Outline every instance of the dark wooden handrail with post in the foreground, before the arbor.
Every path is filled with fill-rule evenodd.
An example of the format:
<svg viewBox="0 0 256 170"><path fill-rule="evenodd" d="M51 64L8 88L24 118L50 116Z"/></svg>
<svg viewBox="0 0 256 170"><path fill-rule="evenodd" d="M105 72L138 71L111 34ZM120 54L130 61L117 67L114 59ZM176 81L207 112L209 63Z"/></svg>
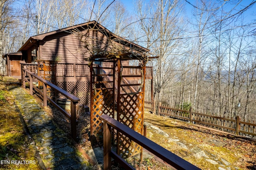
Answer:
<svg viewBox="0 0 256 170"><path fill-rule="evenodd" d="M163 148L162 146L156 144L152 140L149 140L145 136L135 132L126 125L116 121L108 115L101 115L100 119L104 121L104 170L111 168L111 133L110 127L113 127L118 132L124 134L126 137L130 138L152 154L158 156L158 158L164 160L164 162L170 164L179 170L199 170L200 168L194 166L193 164L187 162L186 160L180 158L176 154L170 152L169 150ZM116 156L116 155L115 155Z"/></svg>

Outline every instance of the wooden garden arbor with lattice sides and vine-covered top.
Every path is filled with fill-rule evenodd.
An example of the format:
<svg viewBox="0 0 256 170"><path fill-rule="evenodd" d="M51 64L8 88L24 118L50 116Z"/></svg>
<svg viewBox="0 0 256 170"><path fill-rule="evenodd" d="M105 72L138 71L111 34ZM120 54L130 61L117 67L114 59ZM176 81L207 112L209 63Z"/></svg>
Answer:
<svg viewBox="0 0 256 170"><path fill-rule="evenodd" d="M108 115L143 135L144 87L148 57L134 53L107 53L90 58L91 137L102 138L100 115ZM136 66L123 65L137 60ZM103 66L94 63L104 62ZM128 81L129 79L129 81ZM117 154L128 158L142 147L119 132L112 131ZM116 138L114 138L116 136Z"/></svg>

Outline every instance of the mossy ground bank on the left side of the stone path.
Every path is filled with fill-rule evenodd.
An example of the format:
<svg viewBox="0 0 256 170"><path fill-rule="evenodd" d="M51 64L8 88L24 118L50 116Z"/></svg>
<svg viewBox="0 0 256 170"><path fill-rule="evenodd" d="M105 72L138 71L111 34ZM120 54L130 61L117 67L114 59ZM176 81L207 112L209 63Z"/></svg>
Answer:
<svg viewBox="0 0 256 170"><path fill-rule="evenodd" d="M40 169L35 156L36 150L24 134L20 113L14 109L10 93L3 90L0 94L5 97L4 101L0 100L0 160L32 161L32 164L2 164L1 169Z"/></svg>

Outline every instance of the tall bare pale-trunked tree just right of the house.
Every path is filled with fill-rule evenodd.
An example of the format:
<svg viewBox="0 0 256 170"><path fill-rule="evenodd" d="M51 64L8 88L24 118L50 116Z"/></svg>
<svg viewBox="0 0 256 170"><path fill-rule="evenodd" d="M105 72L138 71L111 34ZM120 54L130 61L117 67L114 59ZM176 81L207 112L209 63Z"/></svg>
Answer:
<svg viewBox="0 0 256 170"><path fill-rule="evenodd" d="M170 53L177 50L180 40L175 40L182 34L182 2L170 0L151 1L149 7L139 1L137 13L140 27L146 40L146 47L155 56L159 56L153 63L155 71L154 100L161 100L164 88L171 86L177 66L177 57ZM179 15L180 14L180 15Z"/></svg>

